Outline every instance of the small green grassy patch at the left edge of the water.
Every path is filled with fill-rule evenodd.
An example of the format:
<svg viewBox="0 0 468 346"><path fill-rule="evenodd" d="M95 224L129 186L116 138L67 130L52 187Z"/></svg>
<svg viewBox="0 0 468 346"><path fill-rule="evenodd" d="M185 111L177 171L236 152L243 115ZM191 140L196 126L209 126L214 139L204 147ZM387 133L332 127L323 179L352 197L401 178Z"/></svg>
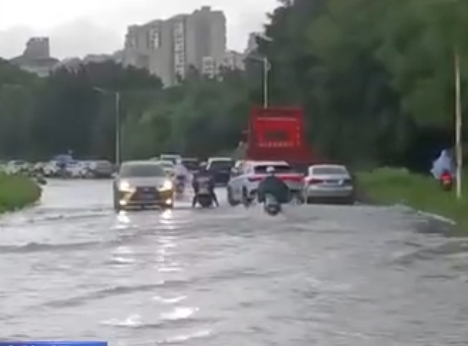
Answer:
<svg viewBox="0 0 468 346"><path fill-rule="evenodd" d="M30 178L0 172L0 213L28 206L41 194L42 189Z"/></svg>

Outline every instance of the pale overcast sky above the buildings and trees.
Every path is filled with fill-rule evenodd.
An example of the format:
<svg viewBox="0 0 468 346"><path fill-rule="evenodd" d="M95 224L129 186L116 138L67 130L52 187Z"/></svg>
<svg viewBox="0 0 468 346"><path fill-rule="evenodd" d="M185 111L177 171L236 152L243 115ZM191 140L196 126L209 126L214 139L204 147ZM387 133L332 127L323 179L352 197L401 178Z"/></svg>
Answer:
<svg viewBox="0 0 468 346"><path fill-rule="evenodd" d="M20 55L31 36L49 36L57 58L121 49L126 28L202 5L223 10L228 47L243 50L276 0L0 0L0 56Z"/></svg>

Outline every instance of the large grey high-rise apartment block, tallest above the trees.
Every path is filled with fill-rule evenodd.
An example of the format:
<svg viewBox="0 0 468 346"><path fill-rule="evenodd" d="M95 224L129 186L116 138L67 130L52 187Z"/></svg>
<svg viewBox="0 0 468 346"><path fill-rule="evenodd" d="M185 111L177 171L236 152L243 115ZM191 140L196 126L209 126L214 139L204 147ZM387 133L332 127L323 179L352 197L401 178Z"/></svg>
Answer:
<svg viewBox="0 0 468 346"><path fill-rule="evenodd" d="M222 64L225 52L226 17L204 6L192 14L130 26L123 62L146 68L171 86L185 77L190 66L203 71L207 58Z"/></svg>

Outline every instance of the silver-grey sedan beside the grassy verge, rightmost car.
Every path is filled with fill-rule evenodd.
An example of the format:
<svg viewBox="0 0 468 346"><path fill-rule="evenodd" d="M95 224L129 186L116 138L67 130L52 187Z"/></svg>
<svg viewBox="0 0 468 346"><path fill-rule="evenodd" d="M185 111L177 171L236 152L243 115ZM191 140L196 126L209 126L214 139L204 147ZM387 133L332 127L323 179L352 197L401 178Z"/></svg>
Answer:
<svg viewBox="0 0 468 346"><path fill-rule="evenodd" d="M355 187L348 169L342 165L317 164L309 167L304 178L304 200L330 200L354 204Z"/></svg>

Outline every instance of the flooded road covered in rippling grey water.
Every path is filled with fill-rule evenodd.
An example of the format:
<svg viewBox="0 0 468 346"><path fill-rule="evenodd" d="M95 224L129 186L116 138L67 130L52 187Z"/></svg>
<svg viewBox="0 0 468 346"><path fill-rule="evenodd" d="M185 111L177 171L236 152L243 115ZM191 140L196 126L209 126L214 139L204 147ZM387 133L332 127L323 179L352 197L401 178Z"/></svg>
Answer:
<svg viewBox="0 0 468 346"><path fill-rule="evenodd" d="M220 200L225 196L222 192ZM403 208L116 215L50 182L0 219L0 337L111 345L466 345L468 242ZM226 205L226 203L224 203Z"/></svg>

